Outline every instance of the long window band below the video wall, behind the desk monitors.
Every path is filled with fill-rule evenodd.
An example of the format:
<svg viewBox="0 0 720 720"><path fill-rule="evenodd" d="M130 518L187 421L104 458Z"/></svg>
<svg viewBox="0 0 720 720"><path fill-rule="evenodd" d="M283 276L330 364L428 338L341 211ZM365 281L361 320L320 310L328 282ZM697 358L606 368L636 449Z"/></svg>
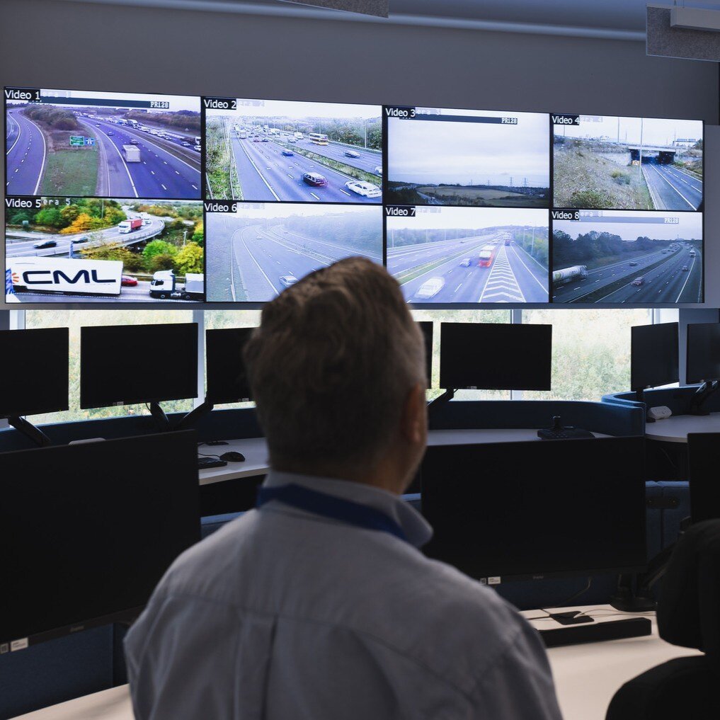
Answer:
<svg viewBox="0 0 720 720"><path fill-rule="evenodd" d="M441 323L549 323L553 325L552 391L509 392L501 390L461 390L458 400L600 400L609 392L629 389L630 328L647 323L677 322L677 309L618 310L414 310L415 320L433 322L432 389L428 400L441 395L440 325ZM146 414L143 405L81 410L80 328L83 325L126 325L150 323L198 322L201 332L217 328L251 328L260 323L259 310L19 310L11 311L11 327L70 328L70 410L30 417L32 423L71 422ZM129 372L162 372L172 356L153 358L138 351L138 364ZM528 354L531 361L531 354ZM201 377L204 368L201 368ZM186 412L197 401L163 403L168 413ZM252 403L219 405L219 408L247 408Z"/></svg>

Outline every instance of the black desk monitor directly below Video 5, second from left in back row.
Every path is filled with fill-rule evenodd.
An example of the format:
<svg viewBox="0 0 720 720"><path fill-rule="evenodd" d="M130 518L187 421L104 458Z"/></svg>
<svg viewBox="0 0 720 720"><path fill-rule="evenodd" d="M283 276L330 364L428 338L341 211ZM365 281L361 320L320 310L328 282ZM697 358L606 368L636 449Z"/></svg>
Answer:
<svg viewBox="0 0 720 720"><path fill-rule="evenodd" d="M197 323L81 328L80 407L197 397Z"/></svg>

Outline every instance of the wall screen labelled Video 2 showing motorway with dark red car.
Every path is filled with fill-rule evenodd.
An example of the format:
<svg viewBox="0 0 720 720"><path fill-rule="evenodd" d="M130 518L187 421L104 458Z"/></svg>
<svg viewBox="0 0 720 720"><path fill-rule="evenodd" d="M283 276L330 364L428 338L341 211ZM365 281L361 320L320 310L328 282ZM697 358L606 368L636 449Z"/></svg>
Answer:
<svg viewBox="0 0 720 720"><path fill-rule="evenodd" d="M202 99L207 197L382 202L379 105Z"/></svg>

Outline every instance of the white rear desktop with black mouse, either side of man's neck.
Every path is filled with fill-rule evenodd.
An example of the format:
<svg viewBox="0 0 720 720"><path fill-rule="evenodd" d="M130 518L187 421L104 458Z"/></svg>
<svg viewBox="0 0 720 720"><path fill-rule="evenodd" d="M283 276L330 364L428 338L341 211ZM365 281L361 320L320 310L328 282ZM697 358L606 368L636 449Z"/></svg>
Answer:
<svg viewBox="0 0 720 720"><path fill-rule="evenodd" d="M594 433L596 438L608 437ZM540 442L537 429L482 430L431 430L428 433L428 445L464 445L471 443L510 443L535 440ZM208 455L222 455L236 450L245 456L245 462L228 462L223 467L211 467L199 471L200 485L212 485L213 482L237 480L240 477L264 475L269 470L268 449L265 438L244 438L228 440L227 445L201 445L198 452Z"/></svg>

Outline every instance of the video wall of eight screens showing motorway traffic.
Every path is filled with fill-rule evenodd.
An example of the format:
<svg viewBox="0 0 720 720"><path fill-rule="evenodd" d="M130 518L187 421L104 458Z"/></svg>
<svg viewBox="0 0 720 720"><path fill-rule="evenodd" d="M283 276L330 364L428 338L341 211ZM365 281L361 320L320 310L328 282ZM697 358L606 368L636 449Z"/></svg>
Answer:
<svg viewBox="0 0 720 720"><path fill-rule="evenodd" d="M703 301L703 122L5 88L6 302Z"/></svg>

